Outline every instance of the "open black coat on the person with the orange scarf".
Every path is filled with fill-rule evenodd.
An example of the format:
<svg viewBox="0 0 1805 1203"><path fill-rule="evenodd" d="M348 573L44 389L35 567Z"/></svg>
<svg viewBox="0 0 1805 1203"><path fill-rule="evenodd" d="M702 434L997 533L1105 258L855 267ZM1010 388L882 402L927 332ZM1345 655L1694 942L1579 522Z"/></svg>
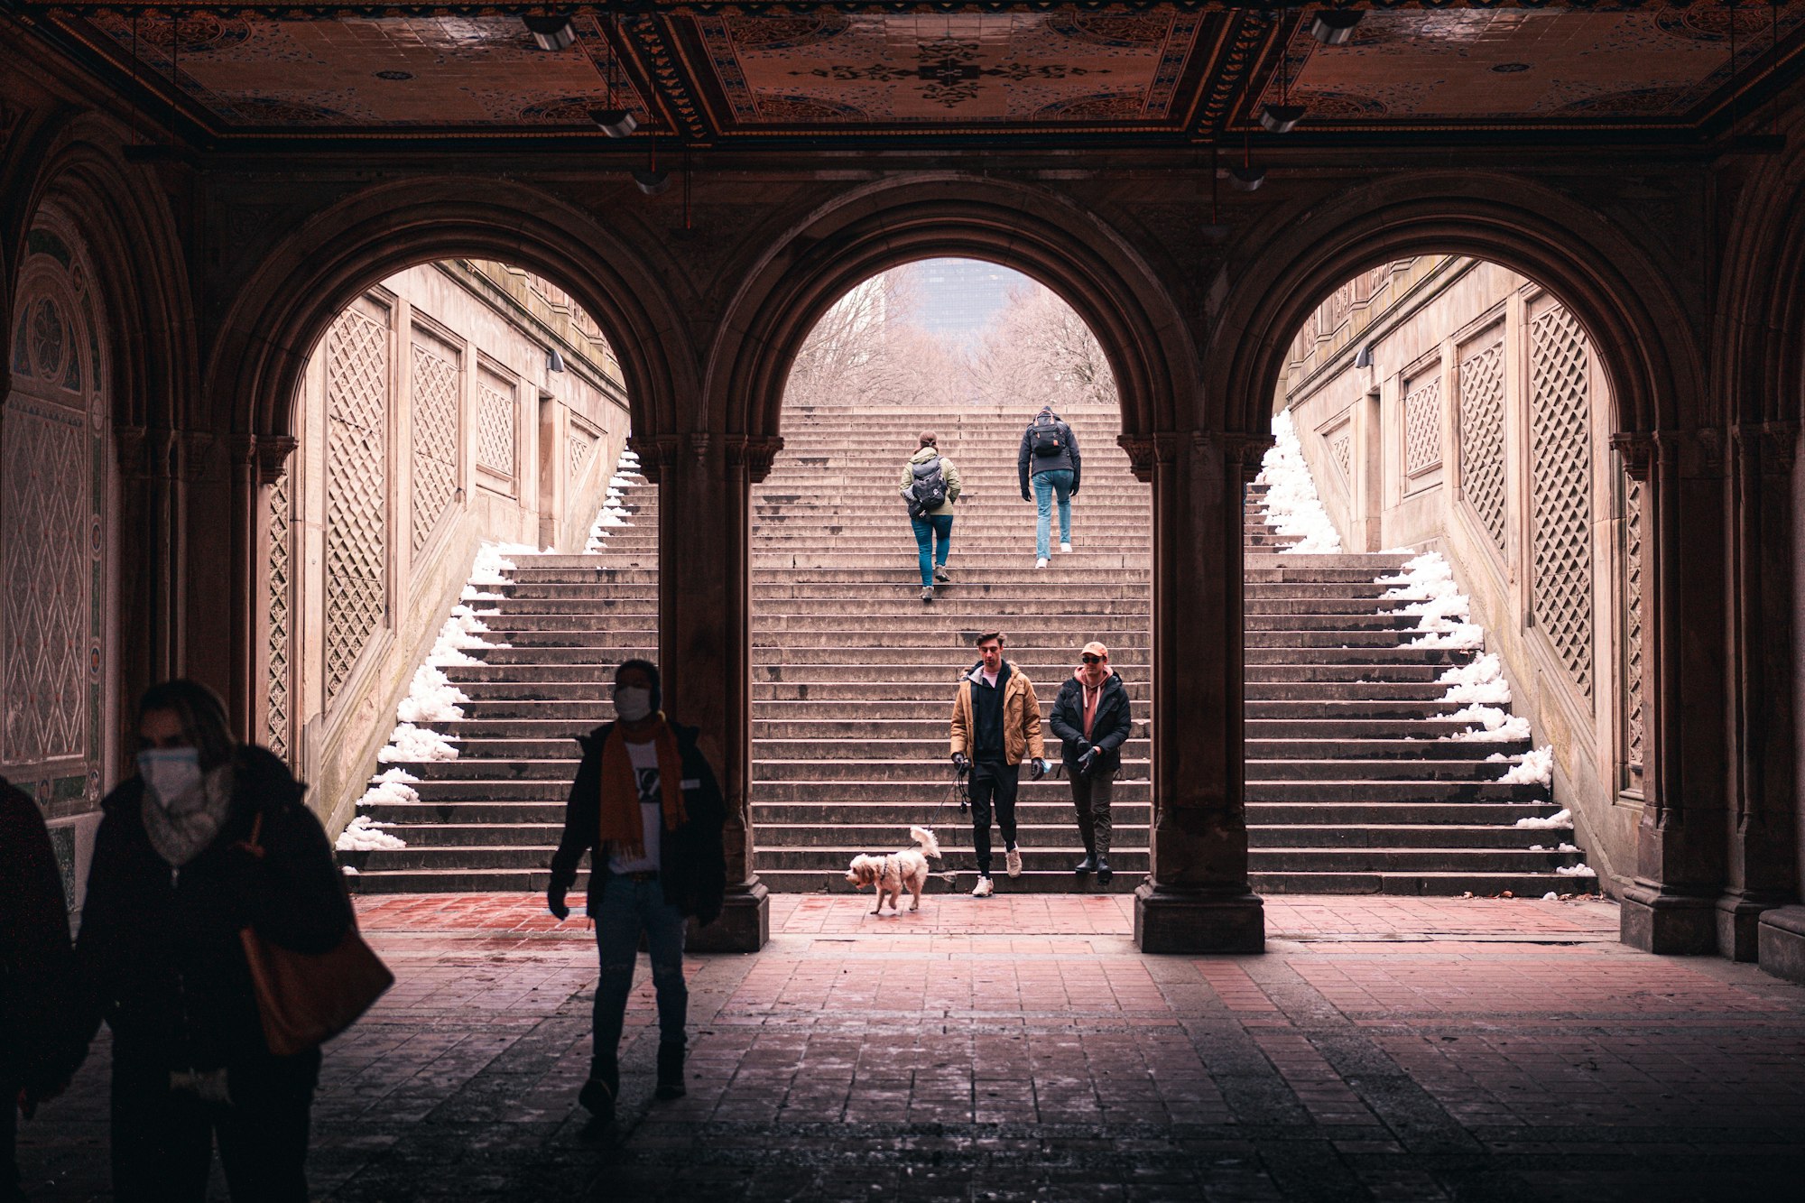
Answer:
<svg viewBox="0 0 1805 1203"><path fill-rule="evenodd" d="M601 746L614 732L603 723L588 735L578 735L583 746L583 764L570 784L565 804L565 831L552 854L552 889L570 889L583 865L583 853L594 853L588 874L588 912L596 914L601 898L597 889L608 876L608 849L597 847L601 836ZM727 853L722 847L722 827L727 822L727 804L708 757L695 746L697 728L671 723L677 751L682 753L682 804L690 820L677 831L659 838L659 881L664 901L684 916L695 916L704 927L720 916L720 898L727 889Z"/></svg>

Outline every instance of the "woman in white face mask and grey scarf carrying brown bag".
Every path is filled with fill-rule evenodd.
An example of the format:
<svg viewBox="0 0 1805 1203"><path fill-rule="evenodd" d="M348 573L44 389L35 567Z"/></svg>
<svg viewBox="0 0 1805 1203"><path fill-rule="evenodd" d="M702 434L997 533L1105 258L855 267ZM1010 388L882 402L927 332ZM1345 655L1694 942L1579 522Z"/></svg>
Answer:
<svg viewBox="0 0 1805 1203"><path fill-rule="evenodd" d="M269 1051L238 932L332 950L352 923L343 878L303 788L231 737L213 690L152 686L137 732L76 941L87 1030L114 1033L116 1198L204 1199L218 1140L233 1199L305 1199L319 1049Z"/></svg>

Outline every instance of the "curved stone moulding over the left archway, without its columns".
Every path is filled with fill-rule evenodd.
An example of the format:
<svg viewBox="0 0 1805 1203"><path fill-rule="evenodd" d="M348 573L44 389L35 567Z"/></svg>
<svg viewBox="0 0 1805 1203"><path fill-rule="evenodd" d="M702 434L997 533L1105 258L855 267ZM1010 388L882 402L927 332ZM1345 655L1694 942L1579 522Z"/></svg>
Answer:
<svg viewBox="0 0 1805 1203"><path fill-rule="evenodd" d="M682 428L684 399L695 396L693 356L652 267L590 213L493 179L480 190L458 179L370 188L273 246L238 289L211 354L206 385L220 423L287 435L296 381L332 318L375 280L455 256L556 280L619 354L634 428Z"/></svg>

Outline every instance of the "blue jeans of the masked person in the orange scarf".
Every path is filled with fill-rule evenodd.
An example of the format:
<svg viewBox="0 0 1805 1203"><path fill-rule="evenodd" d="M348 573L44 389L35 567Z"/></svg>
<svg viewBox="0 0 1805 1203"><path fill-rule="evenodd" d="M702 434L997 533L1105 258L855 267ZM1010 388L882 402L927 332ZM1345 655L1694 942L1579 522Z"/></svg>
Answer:
<svg viewBox="0 0 1805 1203"><path fill-rule="evenodd" d="M606 867L599 872L606 872ZM652 950L652 986L659 997L659 1042L679 1048L684 1044L684 1021L690 1013L690 986L682 979L684 918L677 907L664 901L664 885L657 878L634 881L610 872L594 919L601 979L596 983L596 1069L590 1073L617 1084L616 1057L621 1049L626 995L634 992L634 961L639 957L641 932L646 934Z"/></svg>

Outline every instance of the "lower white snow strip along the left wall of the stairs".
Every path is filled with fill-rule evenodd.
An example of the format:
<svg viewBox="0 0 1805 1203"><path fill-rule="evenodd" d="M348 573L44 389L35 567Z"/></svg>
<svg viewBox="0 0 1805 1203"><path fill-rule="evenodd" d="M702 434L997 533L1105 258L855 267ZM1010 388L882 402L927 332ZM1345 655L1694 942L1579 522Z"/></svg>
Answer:
<svg viewBox="0 0 1805 1203"><path fill-rule="evenodd" d="M467 703L469 697L466 697L464 690L451 685L451 679L444 674L446 665L480 665L480 659L467 654L471 648L511 647L505 639L482 638L489 634L489 625L482 621L478 611L469 607L469 602L500 602L502 594L489 592L487 587L507 583L505 574L514 571L514 562L507 556L531 555L532 551L525 544L484 544L477 551L477 562L471 565L464 592L458 603L451 607L451 616L446 618L444 627L439 629L439 638L426 654L426 663L415 668L408 695L395 706L397 724L388 733L388 744L375 753L379 762L393 768L386 769L365 789L363 797L357 798L359 809L379 802L421 800L421 795L408 784L419 779L395 766L395 760L457 760L457 735L444 735L421 724L448 723L464 717L460 703ZM495 611L482 612L493 614ZM368 815L359 815L339 833L336 847L341 853L366 853L406 847L406 842L386 831L379 831Z"/></svg>

